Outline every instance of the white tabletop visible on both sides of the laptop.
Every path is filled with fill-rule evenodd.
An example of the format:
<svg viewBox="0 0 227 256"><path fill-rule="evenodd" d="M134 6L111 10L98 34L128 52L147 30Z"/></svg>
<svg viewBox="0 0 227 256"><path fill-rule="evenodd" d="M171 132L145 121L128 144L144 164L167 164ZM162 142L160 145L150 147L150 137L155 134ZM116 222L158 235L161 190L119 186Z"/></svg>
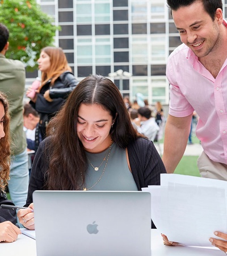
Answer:
<svg viewBox="0 0 227 256"><path fill-rule="evenodd" d="M161 234L152 230L152 255L151 256L224 256L224 252L213 249L186 246L163 245ZM36 256L36 243L30 237L21 234L13 243L0 244L1 255Z"/></svg>

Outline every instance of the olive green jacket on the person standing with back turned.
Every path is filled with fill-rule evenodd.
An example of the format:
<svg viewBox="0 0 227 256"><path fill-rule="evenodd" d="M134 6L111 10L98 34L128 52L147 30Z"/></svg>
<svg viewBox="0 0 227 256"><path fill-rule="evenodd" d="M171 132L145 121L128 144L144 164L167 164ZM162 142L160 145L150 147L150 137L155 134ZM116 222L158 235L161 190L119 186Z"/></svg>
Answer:
<svg viewBox="0 0 227 256"><path fill-rule="evenodd" d="M26 150L26 134L23 130L23 97L25 68L21 61L7 59L0 53L0 90L7 95L10 104L11 150L18 155Z"/></svg>

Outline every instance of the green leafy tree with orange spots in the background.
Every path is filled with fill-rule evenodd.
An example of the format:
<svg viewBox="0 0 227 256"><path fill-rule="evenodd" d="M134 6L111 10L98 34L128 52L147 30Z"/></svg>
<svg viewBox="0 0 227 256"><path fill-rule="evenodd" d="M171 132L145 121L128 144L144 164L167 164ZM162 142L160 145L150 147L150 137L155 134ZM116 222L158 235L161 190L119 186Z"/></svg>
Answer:
<svg viewBox="0 0 227 256"><path fill-rule="evenodd" d="M1 0L0 22L10 31L7 57L21 60L28 71L37 68L40 50L53 46L55 32L59 29L35 0Z"/></svg>

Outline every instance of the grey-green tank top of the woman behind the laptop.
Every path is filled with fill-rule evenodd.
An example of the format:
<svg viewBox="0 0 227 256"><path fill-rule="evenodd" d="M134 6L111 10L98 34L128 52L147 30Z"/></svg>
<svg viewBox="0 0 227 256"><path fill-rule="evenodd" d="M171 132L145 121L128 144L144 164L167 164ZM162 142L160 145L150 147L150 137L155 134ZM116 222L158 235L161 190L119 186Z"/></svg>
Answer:
<svg viewBox="0 0 227 256"><path fill-rule="evenodd" d="M137 191L136 183L128 168L125 149L113 143L109 157L108 152L109 148L98 154L86 152L87 158L90 160L88 160L88 169L85 175L87 190ZM105 156L106 160L103 161ZM103 172L105 165L106 169ZM95 171L94 167L99 167L99 170Z"/></svg>

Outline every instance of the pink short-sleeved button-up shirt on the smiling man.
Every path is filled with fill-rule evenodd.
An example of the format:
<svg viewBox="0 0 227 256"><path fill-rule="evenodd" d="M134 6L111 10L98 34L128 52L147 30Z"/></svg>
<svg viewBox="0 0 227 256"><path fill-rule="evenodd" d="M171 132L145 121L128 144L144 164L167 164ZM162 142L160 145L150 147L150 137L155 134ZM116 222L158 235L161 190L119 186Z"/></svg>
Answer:
<svg viewBox="0 0 227 256"><path fill-rule="evenodd" d="M195 110L199 115L196 135L205 154L227 164L227 59L215 79L182 44L171 53L166 76L170 82L169 113L186 117Z"/></svg>

